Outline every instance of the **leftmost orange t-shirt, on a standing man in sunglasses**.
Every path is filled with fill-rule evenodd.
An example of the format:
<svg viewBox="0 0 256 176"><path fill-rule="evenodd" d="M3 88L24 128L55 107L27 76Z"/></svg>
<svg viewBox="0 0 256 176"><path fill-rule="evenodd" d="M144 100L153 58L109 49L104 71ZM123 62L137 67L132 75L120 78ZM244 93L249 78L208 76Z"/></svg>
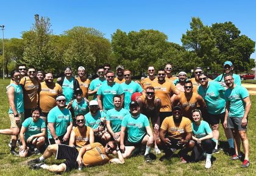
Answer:
<svg viewBox="0 0 256 176"><path fill-rule="evenodd" d="M39 83L35 78L33 81L30 80L29 76L24 76L20 84L24 86L23 91L23 101L25 109L32 109L32 107L37 107L37 93L39 88ZM22 86L21 85L21 86Z"/></svg>

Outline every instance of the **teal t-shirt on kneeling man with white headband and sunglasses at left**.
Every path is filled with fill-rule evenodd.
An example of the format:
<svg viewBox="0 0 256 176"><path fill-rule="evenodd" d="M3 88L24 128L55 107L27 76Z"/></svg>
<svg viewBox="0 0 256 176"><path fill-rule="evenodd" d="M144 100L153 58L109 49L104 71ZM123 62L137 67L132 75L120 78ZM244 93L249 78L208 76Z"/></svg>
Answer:
<svg viewBox="0 0 256 176"><path fill-rule="evenodd" d="M54 129L57 137L66 133L66 128L71 122L73 122L71 112L64 108L60 110L59 107L55 106L50 110L47 117L48 123L54 123ZM51 132L48 127L48 138L52 138Z"/></svg>

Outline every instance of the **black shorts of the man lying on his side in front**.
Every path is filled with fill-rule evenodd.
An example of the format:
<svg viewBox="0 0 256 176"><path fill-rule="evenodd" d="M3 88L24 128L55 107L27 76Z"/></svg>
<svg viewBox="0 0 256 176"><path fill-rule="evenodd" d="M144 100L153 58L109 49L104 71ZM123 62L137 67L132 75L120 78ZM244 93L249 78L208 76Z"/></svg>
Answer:
<svg viewBox="0 0 256 176"><path fill-rule="evenodd" d="M58 150L56 154L57 160L66 160L66 172L71 171L72 169L78 168L78 163L76 158L78 156L78 151L76 147L66 146L64 144L58 144Z"/></svg>

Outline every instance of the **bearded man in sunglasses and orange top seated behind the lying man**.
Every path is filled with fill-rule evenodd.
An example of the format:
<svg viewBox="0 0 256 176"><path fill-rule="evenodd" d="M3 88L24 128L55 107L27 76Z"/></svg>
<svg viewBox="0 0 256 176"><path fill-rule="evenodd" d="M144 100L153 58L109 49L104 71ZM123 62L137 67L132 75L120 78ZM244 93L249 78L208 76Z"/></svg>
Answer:
<svg viewBox="0 0 256 176"><path fill-rule="evenodd" d="M89 126L85 126L85 117L83 114L77 114L75 127L70 134L69 146L84 147L94 143L94 132Z"/></svg>

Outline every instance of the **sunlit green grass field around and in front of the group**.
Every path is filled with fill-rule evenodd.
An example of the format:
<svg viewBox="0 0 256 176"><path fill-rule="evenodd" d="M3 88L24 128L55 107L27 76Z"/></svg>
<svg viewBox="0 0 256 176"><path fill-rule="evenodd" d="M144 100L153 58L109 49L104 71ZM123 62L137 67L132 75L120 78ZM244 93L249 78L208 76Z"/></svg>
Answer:
<svg viewBox="0 0 256 176"><path fill-rule="evenodd" d="M0 80L0 129L10 127L10 120L8 117L9 103L7 101L7 94L5 87L10 83L10 80ZM180 163L179 158L173 157L170 161L159 161L161 155L157 155L157 160L152 163L144 163L142 156L133 157L126 160L123 165L105 164L104 166L94 166L91 168L83 168L82 171L72 171L63 175L256 175L256 133L254 134L254 127L256 127L256 96L251 96L252 108L249 115L249 128L247 134L250 143L250 161L249 168L240 168L241 161L231 161L229 156L221 151L219 154L214 154L213 165L211 169L204 168L204 161L199 163ZM220 140L226 141L223 130L221 128ZM36 158L34 155L29 158L14 157L9 154L10 148L7 145L10 137L7 135L0 135L0 175L54 175L43 169L32 171L26 166L27 160ZM243 150L243 149L242 149ZM46 163L54 164L61 163L52 157Z"/></svg>

